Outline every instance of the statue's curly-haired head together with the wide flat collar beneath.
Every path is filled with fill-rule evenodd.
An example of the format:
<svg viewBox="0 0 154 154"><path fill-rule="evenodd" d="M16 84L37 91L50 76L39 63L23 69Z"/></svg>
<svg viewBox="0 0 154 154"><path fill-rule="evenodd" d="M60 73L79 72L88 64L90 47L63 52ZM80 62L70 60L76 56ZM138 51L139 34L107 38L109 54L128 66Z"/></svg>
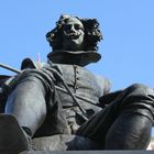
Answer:
<svg viewBox="0 0 154 154"><path fill-rule="evenodd" d="M46 38L53 48L47 57L54 63L85 66L101 58L97 44L102 35L96 19L63 14Z"/></svg>

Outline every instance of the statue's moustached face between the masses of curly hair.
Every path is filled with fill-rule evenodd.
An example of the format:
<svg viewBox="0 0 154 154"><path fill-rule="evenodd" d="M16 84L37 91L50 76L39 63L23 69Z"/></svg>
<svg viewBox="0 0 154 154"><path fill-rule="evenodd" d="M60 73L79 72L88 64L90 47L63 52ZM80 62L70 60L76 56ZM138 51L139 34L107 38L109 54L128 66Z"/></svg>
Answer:
<svg viewBox="0 0 154 154"><path fill-rule="evenodd" d="M85 35L82 23L76 18L69 18L63 30L63 48L81 51Z"/></svg>

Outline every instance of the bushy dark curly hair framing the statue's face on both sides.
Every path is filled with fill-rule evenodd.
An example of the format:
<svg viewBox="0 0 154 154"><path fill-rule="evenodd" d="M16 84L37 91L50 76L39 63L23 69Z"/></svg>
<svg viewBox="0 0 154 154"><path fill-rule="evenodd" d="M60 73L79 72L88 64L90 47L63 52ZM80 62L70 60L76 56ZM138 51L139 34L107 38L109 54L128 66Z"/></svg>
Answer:
<svg viewBox="0 0 154 154"><path fill-rule="evenodd" d="M78 19L84 25L84 51L97 51L97 44L100 40L102 40L98 21L96 19L80 19L78 16L72 16L67 14L62 14L59 20L56 22L56 28L46 34L46 38L50 43L50 46L53 47L53 51L63 50L63 26L67 23L69 18Z"/></svg>

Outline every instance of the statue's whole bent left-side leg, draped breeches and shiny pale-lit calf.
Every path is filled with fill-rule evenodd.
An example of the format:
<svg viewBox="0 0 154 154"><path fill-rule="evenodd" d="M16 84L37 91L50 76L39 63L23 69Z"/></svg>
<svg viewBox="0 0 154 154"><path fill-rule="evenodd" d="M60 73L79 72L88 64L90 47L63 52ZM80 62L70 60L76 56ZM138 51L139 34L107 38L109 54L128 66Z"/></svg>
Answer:
<svg viewBox="0 0 154 154"><path fill-rule="evenodd" d="M51 135L53 131L57 130L56 128L58 128L56 132L68 132L68 125L63 117L62 106L50 75L52 76L52 73L47 74L38 70L23 73L18 78L8 98L4 113L12 114L15 118L14 121L19 123L16 127L12 123L15 131L10 129L8 131L10 134L13 134L11 136L14 136L15 132L20 132L20 136L22 138L20 140L28 142L23 143L24 146L22 150L25 145L28 147L24 150L33 148L31 138ZM18 131L16 128L21 131ZM2 135L3 138L0 138L0 146L8 151L9 143L14 138L3 142L2 139L6 139L6 133ZM18 142L15 143L18 144ZM11 150L19 147L19 145L11 145ZM16 152L19 150L15 151L15 154Z"/></svg>

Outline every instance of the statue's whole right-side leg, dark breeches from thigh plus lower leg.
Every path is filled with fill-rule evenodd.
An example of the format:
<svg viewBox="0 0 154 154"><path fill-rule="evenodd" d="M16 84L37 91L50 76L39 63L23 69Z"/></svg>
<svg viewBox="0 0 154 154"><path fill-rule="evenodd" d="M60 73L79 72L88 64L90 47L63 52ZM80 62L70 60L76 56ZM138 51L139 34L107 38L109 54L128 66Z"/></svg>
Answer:
<svg viewBox="0 0 154 154"><path fill-rule="evenodd" d="M151 139L153 118L153 89L135 84L81 125L77 133L98 141L106 150L143 150Z"/></svg>

